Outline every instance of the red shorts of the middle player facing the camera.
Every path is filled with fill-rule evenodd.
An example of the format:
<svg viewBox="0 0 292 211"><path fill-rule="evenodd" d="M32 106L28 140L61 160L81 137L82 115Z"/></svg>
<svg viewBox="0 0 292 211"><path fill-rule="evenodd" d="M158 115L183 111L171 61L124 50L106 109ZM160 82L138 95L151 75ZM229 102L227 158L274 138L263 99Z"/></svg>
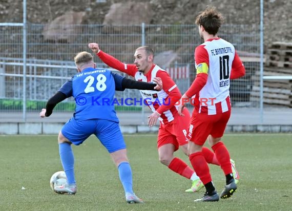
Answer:
<svg viewBox="0 0 292 211"><path fill-rule="evenodd" d="M178 113L174 116L174 120L169 123L160 123L158 130L157 147L168 143L172 143L175 146L175 151L179 146L187 143L186 132L190 124L190 112L187 108L183 109L184 116L180 116Z"/></svg>

